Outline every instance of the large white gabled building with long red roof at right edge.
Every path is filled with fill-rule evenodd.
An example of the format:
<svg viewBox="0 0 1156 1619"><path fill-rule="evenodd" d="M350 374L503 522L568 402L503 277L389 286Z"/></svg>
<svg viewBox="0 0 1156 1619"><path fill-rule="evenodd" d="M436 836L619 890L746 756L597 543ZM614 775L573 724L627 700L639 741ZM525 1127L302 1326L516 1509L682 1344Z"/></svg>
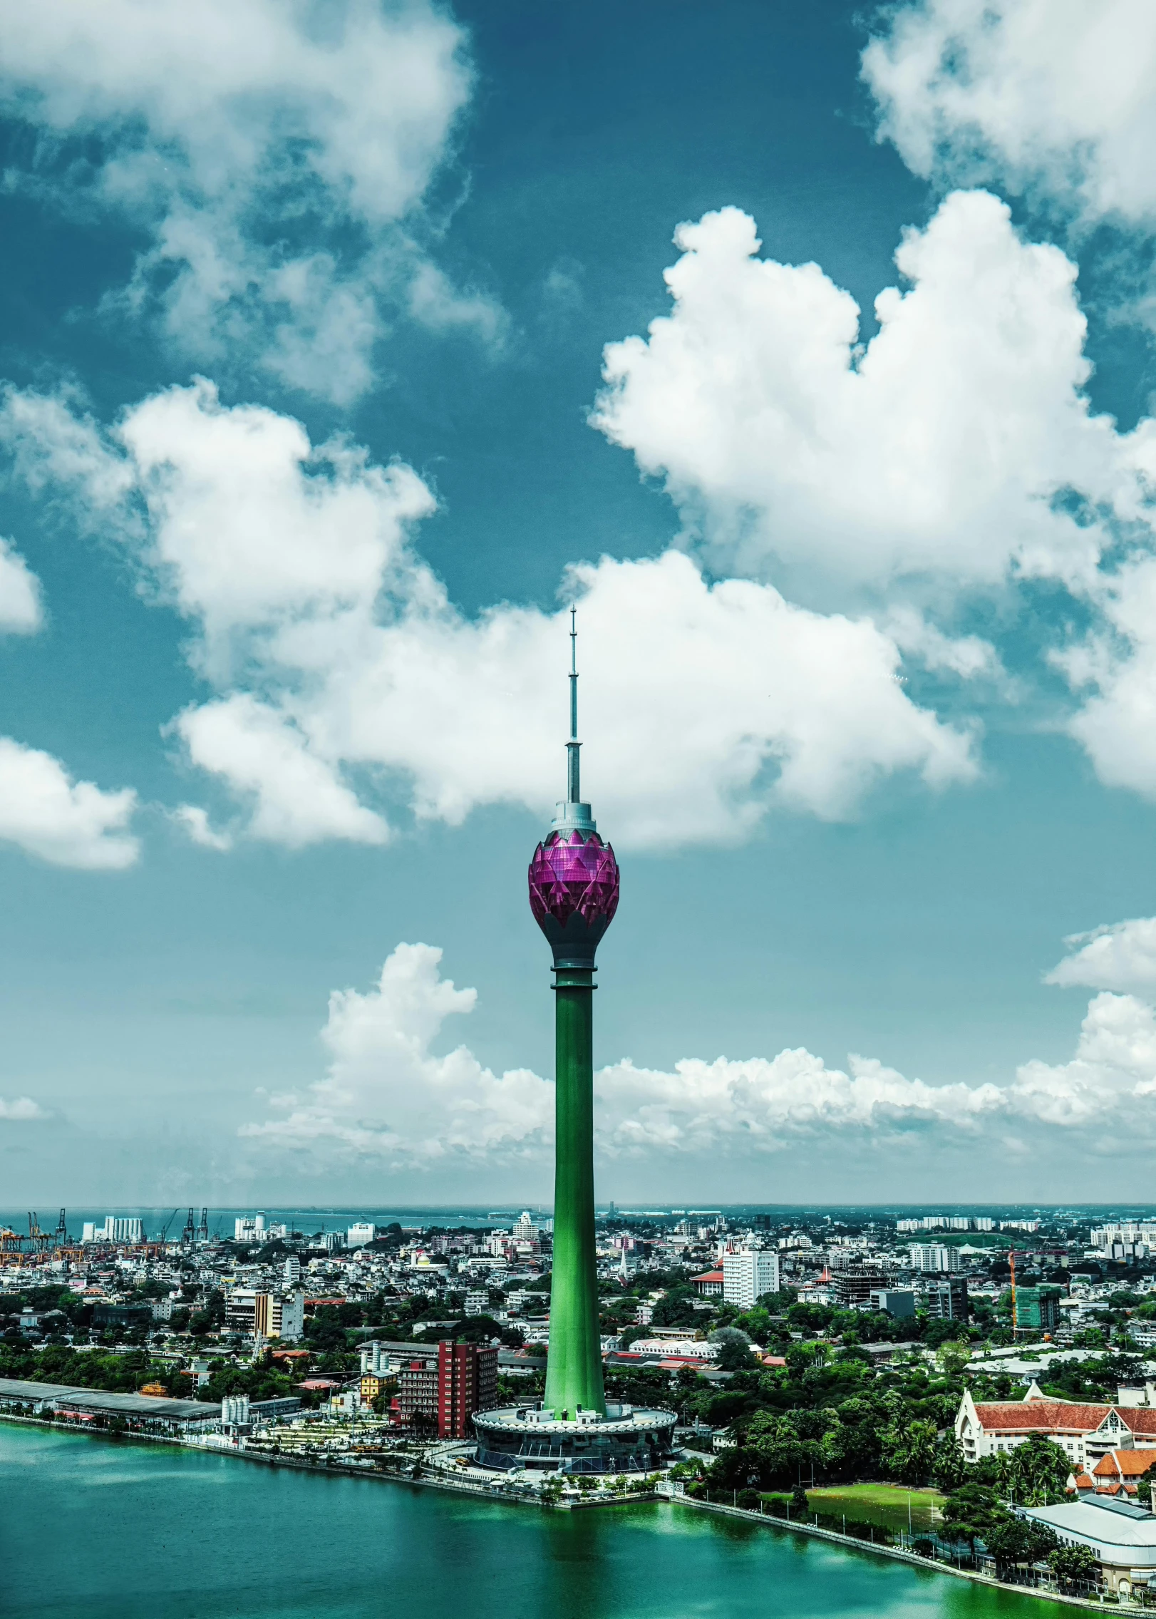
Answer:
<svg viewBox="0 0 1156 1619"><path fill-rule="evenodd" d="M1091 1473L1109 1451L1148 1451L1156 1462L1156 1409L1083 1405L1051 1400L1031 1384L1022 1400L975 1402L965 1391L955 1417L955 1438L968 1462L1001 1455L1033 1433L1052 1439L1073 1472Z"/></svg>

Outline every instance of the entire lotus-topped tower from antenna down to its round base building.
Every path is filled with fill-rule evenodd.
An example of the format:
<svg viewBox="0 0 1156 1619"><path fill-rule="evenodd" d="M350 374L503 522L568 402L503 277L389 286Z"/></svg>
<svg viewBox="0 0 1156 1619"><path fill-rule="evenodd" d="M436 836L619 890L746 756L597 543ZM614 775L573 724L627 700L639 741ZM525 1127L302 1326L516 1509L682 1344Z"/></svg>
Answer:
<svg viewBox="0 0 1156 1619"><path fill-rule="evenodd" d="M529 861L529 908L554 952L554 1268L546 1399L479 1412L478 1457L504 1468L652 1468L670 1451L675 1415L607 1409L594 1250L594 952L618 908L618 861L583 801L578 657L570 610L567 797Z"/></svg>

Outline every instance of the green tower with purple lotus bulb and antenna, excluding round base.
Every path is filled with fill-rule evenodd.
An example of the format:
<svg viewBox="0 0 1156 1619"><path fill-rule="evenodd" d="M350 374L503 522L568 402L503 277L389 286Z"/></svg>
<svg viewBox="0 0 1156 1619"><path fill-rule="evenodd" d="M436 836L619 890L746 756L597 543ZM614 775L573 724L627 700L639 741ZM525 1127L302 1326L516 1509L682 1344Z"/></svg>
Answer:
<svg viewBox="0 0 1156 1619"><path fill-rule="evenodd" d="M570 609L567 797L529 861L529 908L554 952L554 1271L546 1407L606 1415L594 1255L594 952L618 908L618 863L583 803L578 631Z"/></svg>

